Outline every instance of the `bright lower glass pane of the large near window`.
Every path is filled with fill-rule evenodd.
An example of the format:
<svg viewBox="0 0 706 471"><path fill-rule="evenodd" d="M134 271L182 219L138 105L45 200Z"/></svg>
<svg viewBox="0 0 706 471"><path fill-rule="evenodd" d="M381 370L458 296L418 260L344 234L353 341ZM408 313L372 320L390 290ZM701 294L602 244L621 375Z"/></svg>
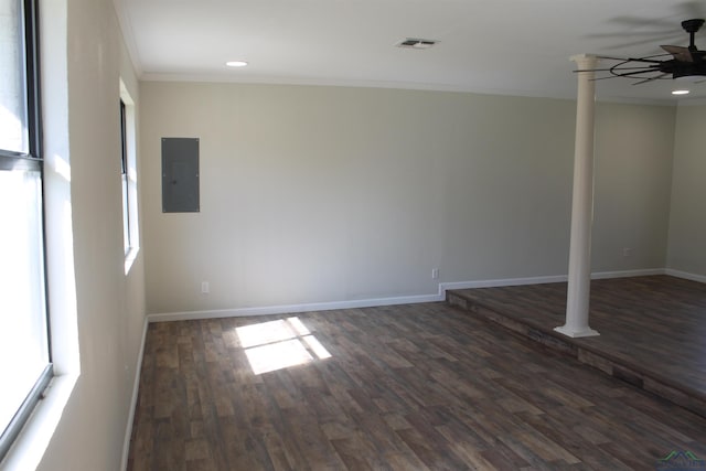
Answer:
<svg viewBox="0 0 706 471"><path fill-rule="evenodd" d="M41 203L39 171L0 171L0 430L49 363Z"/></svg>

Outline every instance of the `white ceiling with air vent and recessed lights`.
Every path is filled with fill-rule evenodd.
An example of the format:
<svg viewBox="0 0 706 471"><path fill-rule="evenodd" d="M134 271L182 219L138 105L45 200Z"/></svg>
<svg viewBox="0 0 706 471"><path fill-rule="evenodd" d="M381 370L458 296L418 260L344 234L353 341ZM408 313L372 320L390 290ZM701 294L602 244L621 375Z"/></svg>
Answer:
<svg viewBox="0 0 706 471"><path fill-rule="evenodd" d="M704 1L114 0L142 79L468 90L573 98L575 54L645 56L687 45ZM404 50L406 38L437 40ZM706 50L706 26L696 35ZM243 68L225 67L243 60ZM608 63L612 65L611 63ZM706 83L597 82L602 99L706 97Z"/></svg>

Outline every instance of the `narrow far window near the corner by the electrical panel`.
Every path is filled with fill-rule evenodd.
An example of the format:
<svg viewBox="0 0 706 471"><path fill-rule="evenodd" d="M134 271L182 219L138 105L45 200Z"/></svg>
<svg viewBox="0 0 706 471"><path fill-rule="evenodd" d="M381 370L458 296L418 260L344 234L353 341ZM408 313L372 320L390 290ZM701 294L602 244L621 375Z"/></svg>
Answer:
<svg viewBox="0 0 706 471"><path fill-rule="evenodd" d="M120 81L120 179L122 183L122 243L126 275L130 271L140 247L135 126L135 103L127 87Z"/></svg>

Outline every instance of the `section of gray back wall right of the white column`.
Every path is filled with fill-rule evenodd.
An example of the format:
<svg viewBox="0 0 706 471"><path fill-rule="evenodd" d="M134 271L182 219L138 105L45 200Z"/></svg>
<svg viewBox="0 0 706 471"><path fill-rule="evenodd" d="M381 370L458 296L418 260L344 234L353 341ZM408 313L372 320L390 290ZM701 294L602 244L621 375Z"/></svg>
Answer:
<svg viewBox="0 0 706 471"><path fill-rule="evenodd" d="M665 267L675 114L676 108L598 107L593 271ZM630 257L623 257L624 248Z"/></svg>

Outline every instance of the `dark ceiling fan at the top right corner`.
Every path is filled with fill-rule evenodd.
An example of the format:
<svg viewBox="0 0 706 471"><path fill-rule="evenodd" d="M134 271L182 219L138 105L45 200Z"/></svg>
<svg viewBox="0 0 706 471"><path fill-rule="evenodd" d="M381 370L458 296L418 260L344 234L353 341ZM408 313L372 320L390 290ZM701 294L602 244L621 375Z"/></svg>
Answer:
<svg viewBox="0 0 706 471"><path fill-rule="evenodd" d="M688 33L689 38L687 47L663 45L661 47L666 52L665 54L648 55L644 57L610 57L598 55L598 58L617 61L617 63L611 67L578 69L574 72L608 72L610 75L595 79L600 81L613 77L638 79L633 85L661 78L706 77L706 51L699 51L696 44L694 44L694 35L703 24L703 19L682 21L682 28ZM665 56L671 56L671 58L660 58Z"/></svg>

